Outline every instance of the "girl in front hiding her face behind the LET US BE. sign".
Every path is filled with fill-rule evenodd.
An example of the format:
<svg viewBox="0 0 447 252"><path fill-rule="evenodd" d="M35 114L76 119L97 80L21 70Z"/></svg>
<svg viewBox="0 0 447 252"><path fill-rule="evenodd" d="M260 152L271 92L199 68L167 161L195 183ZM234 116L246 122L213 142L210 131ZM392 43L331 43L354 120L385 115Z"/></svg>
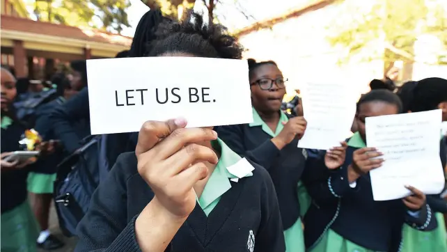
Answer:
<svg viewBox="0 0 447 252"><path fill-rule="evenodd" d="M237 40L222 26L206 26L200 15L160 26L158 34L148 56L242 57ZM171 208L180 226L171 251L285 251L278 201L267 171L250 162L247 165L255 170L230 182L235 177L227 168L242 158L212 129L179 129L186 125L182 119L143 125L135 152L120 155L93 194L77 228L76 251L164 251L170 241L153 249L147 237L159 232L152 228L152 203L166 198L158 198L166 187L172 188L166 196L186 203L184 208ZM192 173L194 184L185 184Z"/></svg>

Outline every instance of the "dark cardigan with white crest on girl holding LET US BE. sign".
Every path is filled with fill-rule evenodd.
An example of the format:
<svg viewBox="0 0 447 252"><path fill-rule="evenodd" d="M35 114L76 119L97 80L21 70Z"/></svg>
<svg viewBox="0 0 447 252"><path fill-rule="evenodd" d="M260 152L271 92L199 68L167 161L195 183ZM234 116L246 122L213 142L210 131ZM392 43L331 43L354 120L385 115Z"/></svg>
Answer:
<svg viewBox="0 0 447 252"><path fill-rule="evenodd" d="M136 164L134 152L118 157L77 227L79 243L75 251L140 251L134 222L154 194ZM171 251L249 251L250 231L255 235L254 251L285 251L272 180L262 167L252 165L253 176L231 182L231 189L208 216L196 204L173 238Z"/></svg>

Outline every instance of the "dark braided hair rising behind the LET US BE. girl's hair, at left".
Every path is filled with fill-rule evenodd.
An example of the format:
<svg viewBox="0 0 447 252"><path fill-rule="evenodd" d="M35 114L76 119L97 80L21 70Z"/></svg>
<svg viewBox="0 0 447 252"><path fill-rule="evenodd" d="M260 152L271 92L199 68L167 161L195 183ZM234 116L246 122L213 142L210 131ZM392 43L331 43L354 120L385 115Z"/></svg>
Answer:
<svg viewBox="0 0 447 252"><path fill-rule="evenodd" d="M149 10L144 14L136 26L135 35L128 56L145 56L146 47L148 47L148 44L152 42L152 40L157 38L155 32L157 31L159 24L170 21L171 19L164 17L160 10Z"/></svg>

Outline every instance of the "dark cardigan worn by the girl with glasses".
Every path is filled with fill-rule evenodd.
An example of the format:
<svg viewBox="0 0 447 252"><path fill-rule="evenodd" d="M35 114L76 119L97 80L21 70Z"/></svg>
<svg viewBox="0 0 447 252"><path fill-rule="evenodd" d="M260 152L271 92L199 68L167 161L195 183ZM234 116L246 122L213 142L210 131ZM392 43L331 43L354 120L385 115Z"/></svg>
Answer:
<svg viewBox="0 0 447 252"><path fill-rule="evenodd" d="M297 139L279 150L260 126L226 125L215 131L231 150L267 169L278 196L283 228L290 228L299 219L297 187L306 165L306 150L297 147Z"/></svg>

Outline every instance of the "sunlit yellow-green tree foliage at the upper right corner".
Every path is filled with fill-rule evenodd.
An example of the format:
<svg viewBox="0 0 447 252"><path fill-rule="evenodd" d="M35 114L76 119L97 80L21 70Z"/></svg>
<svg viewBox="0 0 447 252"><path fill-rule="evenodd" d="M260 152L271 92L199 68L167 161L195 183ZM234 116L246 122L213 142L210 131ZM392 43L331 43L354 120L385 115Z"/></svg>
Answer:
<svg viewBox="0 0 447 252"><path fill-rule="evenodd" d="M359 57L361 61L382 59L385 69L398 60L411 65L417 61L414 43L422 35L436 36L447 48L444 1L370 0L368 8L366 1L345 1L328 27L328 40L347 49L340 63ZM442 63L441 56L438 63Z"/></svg>

